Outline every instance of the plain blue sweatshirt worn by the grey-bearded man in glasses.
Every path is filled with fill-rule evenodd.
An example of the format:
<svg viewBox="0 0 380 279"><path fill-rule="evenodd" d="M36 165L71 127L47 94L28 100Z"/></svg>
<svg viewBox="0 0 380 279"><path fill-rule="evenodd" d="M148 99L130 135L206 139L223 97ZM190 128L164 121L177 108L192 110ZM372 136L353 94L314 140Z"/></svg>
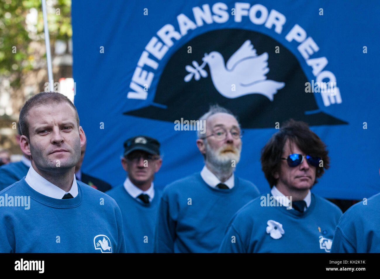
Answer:
<svg viewBox="0 0 380 279"><path fill-rule="evenodd" d="M211 188L200 173L163 190L155 252L217 252L232 216L259 195L255 185L235 176L232 189Z"/></svg>

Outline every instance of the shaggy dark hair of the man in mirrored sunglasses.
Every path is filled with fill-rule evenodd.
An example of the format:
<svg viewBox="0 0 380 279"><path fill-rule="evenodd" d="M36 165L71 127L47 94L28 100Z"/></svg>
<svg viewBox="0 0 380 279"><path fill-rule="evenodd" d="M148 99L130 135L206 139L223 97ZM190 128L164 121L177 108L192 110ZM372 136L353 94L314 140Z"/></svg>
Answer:
<svg viewBox="0 0 380 279"><path fill-rule="evenodd" d="M261 169L264 172L269 186L272 188L277 184L274 173L280 171L281 157L285 143L289 140L298 146L302 152L307 155L319 157L323 160L323 167L317 167L315 174L316 184L317 178L321 177L325 169L329 168L330 158L325 143L309 129L309 126L302 121L293 119L283 123L280 131L273 134L271 139L261 149Z"/></svg>

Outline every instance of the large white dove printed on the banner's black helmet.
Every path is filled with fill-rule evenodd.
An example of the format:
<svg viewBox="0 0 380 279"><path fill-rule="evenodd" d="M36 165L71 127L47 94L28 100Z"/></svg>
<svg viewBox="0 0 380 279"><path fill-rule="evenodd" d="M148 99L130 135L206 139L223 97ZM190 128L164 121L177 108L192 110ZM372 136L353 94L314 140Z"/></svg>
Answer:
<svg viewBox="0 0 380 279"><path fill-rule="evenodd" d="M236 50L226 66L222 54L217 51L205 53L202 60L209 65L216 90L226 98L259 93L273 101L273 95L285 86L284 82L266 80L269 72L268 53L257 56L250 40ZM233 84L236 91L232 90Z"/></svg>

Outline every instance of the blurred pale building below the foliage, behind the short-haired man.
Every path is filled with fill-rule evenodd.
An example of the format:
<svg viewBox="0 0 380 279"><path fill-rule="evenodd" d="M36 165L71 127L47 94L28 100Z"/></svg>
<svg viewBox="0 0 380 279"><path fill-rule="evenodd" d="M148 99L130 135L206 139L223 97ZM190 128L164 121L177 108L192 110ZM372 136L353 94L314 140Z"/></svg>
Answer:
<svg viewBox="0 0 380 279"><path fill-rule="evenodd" d="M47 13L55 14L56 1L47 1ZM15 123L18 122L19 113L24 102L38 92L45 91L47 87L47 62L44 33L37 32L38 15L41 17L42 10L36 8L28 9L25 17L25 29L32 41L28 44L28 54L32 64L32 69L25 71L21 76L12 73L9 76L0 76L0 150L8 149L11 154L22 154L16 143L15 135L17 129ZM12 15L11 15L12 16ZM49 16L48 16L49 19ZM49 22L48 22L49 24ZM52 71L54 78L54 91L58 91L73 98L72 79L72 41L50 38L52 55ZM22 61L21 63L24 63ZM15 70L20 65L12 65ZM13 85L19 77L19 84ZM21 157L12 156L12 160Z"/></svg>

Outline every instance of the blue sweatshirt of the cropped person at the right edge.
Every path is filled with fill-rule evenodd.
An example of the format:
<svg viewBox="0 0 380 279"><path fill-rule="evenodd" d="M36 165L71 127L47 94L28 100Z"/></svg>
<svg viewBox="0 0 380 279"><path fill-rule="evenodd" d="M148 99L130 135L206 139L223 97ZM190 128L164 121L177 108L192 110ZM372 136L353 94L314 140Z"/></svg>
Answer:
<svg viewBox="0 0 380 279"><path fill-rule="evenodd" d="M380 253L380 193L348 208L332 240L333 253Z"/></svg>

